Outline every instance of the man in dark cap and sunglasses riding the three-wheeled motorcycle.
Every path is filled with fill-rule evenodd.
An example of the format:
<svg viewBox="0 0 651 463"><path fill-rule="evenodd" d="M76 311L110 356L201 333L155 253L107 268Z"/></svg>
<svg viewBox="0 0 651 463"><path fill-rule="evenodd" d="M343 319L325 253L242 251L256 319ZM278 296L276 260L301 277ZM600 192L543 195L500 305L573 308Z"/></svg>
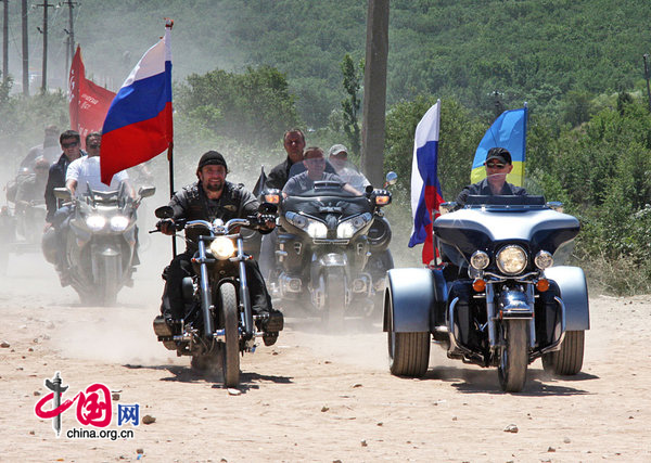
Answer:
<svg viewBox="0 0 651 463"><path fill-rule="evenodd" d="M457 196L457 204L463 206L471 194L480 195L515 195L525 196L526 190L507 182L507 175L513 170L511 153L506 147L492 147L484 162L486 178L461 190Z"/></svg>

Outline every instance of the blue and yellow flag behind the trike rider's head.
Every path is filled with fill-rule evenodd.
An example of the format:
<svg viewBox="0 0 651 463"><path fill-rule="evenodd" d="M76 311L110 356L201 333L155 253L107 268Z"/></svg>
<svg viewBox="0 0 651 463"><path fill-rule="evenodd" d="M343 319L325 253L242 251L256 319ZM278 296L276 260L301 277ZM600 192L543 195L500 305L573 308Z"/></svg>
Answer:
<svg viewBox="0 0 651 463"><path fill-rule="evenodd" d="M470 182L476 183L486 178L484 162L492 147L506 147L511 153L513 170L507 176L507 181L522 187L524 181L524 154L526 150L526 118L527 107L505 111L495 119L480 142L472 163Z"/></svg>

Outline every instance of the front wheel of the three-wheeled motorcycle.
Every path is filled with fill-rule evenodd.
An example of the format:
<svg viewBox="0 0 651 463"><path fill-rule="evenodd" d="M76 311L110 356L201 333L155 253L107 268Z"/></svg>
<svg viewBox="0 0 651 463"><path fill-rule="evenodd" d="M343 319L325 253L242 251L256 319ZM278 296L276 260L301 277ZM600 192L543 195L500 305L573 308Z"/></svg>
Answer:
<svg viewBox="0 0 651 463"><path fill-rule="evenodd" d="M506 393L520 393L526 383L528 365L528 320L502 322L502 348L497 368L499 384Z"/></svg>

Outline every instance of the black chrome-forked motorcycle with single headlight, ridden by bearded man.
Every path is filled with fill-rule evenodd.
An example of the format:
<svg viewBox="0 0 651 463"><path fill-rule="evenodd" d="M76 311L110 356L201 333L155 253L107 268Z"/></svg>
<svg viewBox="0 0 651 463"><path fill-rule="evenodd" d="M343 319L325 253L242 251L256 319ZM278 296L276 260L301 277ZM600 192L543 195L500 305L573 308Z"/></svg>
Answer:
<svg viewBox="0 0 651 463"><path fill-rule="evenodd" d="M226 387L240 384L240 352L255 351L256 337L268 336L258 330L268 316L253 314L244 266L250 256L240 228L259 229L276 219L276 205L263 203L258 215L246 219L176 221L177 230L186 230L186 241L197 246L192 259L195 275L182 282L186 314L180 324L171 325L159 316L154 333L177 356L192 356L196 370L221 369ZM163 206L155 214L168 219L174 209Z"/></svg>

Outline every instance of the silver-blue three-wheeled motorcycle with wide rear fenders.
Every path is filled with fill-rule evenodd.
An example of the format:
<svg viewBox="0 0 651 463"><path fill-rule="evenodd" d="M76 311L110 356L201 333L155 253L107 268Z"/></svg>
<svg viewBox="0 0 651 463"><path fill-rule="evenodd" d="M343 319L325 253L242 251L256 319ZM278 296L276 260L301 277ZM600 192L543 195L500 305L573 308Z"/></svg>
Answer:
<svg viewBox="0 0 651 463"><path fill-rule="evenodd" d="M442 206L454 210L455 203ZM438 217L442 266L388 271L384 296L390 370L422 376L433 339L448 358L497 366L505 391L526 382L541 358L547 372L580 371L589 329L583 270L563 263L576 218L542 196L469 196Z"/></svg>

